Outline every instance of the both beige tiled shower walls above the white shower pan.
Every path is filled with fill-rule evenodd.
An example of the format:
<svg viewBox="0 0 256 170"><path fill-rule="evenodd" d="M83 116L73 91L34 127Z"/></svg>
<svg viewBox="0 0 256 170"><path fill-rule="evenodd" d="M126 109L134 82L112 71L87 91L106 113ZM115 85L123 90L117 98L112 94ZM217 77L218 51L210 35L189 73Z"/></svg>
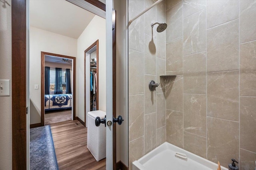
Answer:
<svg viewBox="0 0 256 170"><path fill-rule="evenodd" d="M149 2L130 0L130 19ZM166 50L156 43L156 55L150 53L147 22L160 22L152 14L157 7L129 27L129 165L166 137L222 166L235 158L240 169L253 169L256 1L165 2L166 37L158 39L161 33L153 32L153 40L157 35L157 43L166 41ZM158 51L166 54L166 61ZM150 95L148 81L159 78L159 72L176 77L160 80L166 93L158 87Z"/></svg>

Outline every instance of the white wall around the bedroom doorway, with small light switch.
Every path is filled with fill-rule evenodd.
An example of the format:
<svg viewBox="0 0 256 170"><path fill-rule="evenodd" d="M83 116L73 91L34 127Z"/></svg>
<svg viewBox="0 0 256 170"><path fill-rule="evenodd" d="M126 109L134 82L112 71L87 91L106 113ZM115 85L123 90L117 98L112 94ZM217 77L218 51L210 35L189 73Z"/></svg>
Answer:
<svg viewBox="0 0 256 170"><path fill-rule="evenodd" d="M30 27L30 124L41 122L41 51L76 57L77 40Z"/></svg>

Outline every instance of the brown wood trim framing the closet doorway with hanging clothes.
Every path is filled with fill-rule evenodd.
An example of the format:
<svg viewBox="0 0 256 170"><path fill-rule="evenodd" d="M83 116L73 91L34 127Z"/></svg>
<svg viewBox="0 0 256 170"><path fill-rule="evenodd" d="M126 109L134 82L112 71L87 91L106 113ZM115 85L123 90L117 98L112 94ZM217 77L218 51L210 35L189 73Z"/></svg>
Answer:
<svg viewBox="0 0 256 170"><path fill-rule="evenodd" d="M99 109L99 40L97 39L90 47L88 47L84 51L84 122L86 122L86 53L92 49L92 47L96 46L96 60L97 60L97 67L96 67L96 72L97 72L97 93L96 93L96 110ZM86 125L84 124L84 127Z"/></svg>

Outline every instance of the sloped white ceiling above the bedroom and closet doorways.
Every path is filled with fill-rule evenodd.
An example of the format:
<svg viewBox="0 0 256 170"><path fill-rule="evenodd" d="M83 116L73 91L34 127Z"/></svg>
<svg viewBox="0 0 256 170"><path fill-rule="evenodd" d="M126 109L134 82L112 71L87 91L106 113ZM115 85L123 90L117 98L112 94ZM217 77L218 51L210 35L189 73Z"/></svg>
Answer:
<svg viewBox="0 0 256 170"><path fill-rule="evenodd" d="M30 26L74 39L94 16L66 0L30 0Z"/></svg>

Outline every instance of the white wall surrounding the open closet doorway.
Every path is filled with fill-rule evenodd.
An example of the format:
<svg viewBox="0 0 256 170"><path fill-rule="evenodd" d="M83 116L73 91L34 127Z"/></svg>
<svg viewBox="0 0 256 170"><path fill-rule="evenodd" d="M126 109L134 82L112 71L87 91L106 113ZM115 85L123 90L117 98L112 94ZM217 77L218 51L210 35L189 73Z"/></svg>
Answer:
<svg viewBox="0 0 256 170"><path fill-rule="evenodd" d="M84 51L99 40L99 109L106 111L106 20L95 16L77 39L76 111L84 121ZM98 64L99 63L99 64ZM90 76L90 75L88 75Z"/></svg>

